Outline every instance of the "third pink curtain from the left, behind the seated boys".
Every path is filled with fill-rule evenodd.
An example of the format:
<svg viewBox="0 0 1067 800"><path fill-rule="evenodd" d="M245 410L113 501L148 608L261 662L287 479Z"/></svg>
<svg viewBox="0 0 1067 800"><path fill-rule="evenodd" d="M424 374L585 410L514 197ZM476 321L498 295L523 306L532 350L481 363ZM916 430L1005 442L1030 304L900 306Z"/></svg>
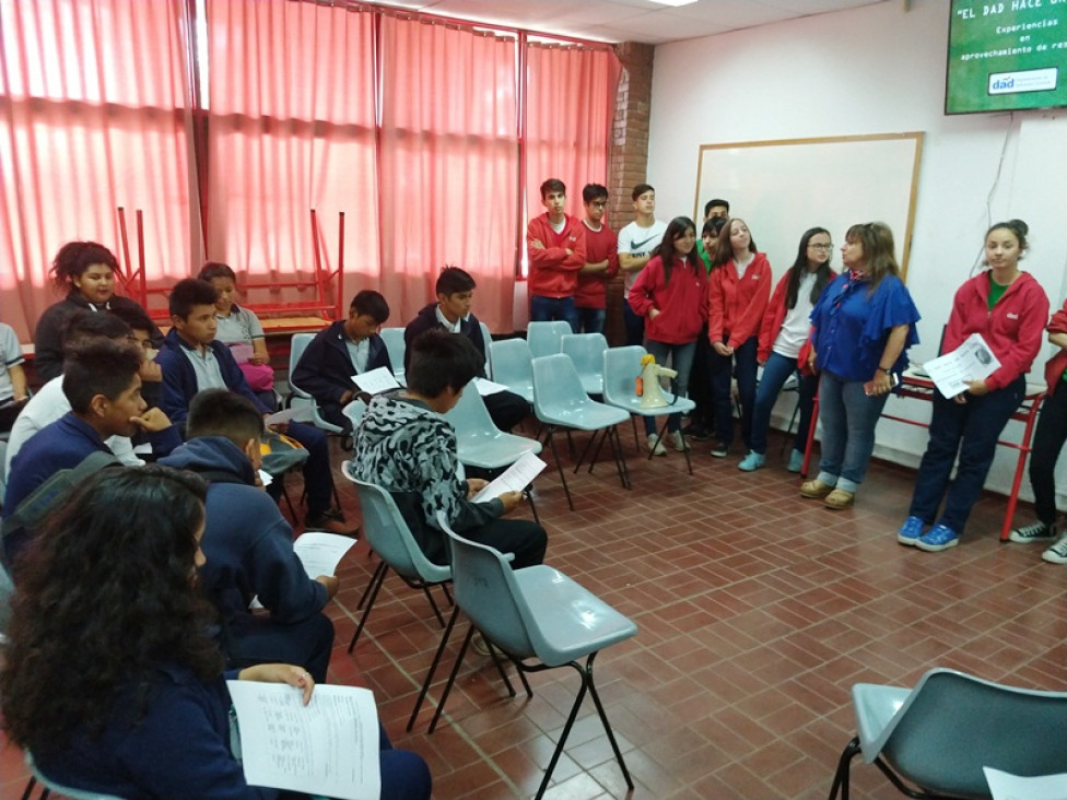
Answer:
<svg viewBox="0 0 1067 800"><path fill-rule="evenodd" d="M389 325L434 297L452 264L478 282L474 314L511 330L518 225L516 39L384 13L382 292Z"/></svg>

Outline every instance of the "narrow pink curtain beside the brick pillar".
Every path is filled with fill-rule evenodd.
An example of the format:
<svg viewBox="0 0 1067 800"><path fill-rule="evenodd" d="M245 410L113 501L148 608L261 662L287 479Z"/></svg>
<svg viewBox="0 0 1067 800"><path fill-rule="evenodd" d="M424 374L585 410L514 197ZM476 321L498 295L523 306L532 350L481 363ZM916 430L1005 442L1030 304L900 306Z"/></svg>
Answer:
<svg viewBox="0 0 1067 800"><path fill-rule="evenodd" d="M566 213L583 216L582 188L608 184L619 59L607 49L530 43L526 49L527 219L544 213L540 186L559 178Z"/></svg>

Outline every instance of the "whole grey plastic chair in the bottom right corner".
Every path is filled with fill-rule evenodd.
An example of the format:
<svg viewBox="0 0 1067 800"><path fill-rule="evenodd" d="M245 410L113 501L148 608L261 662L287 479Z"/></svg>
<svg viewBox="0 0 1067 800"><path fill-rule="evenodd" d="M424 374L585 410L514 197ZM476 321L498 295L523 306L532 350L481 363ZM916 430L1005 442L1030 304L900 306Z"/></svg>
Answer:
<svg viewBox="0 0 1067 800"><path fill-rule="evenodd" d="M934 669L913 690L857 683L852 697L858 736L841 754L830 800L839 789L847 800L860 753L913 798L988 798L986 766L1030 777L1064 772L1067 692Z"/></svg>

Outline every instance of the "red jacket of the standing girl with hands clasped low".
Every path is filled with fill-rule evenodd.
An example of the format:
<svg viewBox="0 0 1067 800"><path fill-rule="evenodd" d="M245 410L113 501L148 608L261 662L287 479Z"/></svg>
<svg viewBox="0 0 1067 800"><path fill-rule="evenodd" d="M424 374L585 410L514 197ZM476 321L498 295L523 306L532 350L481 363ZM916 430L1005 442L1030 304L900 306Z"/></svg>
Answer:
<svg viewBox="0 0 1067 800"><path fill-rule="evenodd" d="M762 252L737 277L732 261L712 270L707 287L707 338L740 348L760 332L771 294L771 263Z"/></svg>

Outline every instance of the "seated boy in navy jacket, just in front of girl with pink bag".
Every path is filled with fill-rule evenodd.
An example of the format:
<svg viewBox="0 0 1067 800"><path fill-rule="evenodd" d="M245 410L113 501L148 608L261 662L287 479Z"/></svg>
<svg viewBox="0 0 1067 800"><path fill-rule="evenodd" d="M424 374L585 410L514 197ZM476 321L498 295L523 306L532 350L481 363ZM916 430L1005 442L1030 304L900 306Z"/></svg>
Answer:
<svg viewBox="0 0 1067 800"><path fill-rule="evenodd" d="M163 410L177 423L184 423L189 403L198 391L230 389L251 401L263 416L270 411L248 388L244 374L230 354L230 348L215 341L215 298L219 292L210 283L187 278L171 291L171 321L157 361L163 367ZM284 428L284 430L283 430ZM330 468L326 434L310 426L291 422L279 426L307 448L304 462L304 490L307 492L307 517L304 525L341 536L354 536L359 528L345 525L340 510L331 508L333 470Z"/></svg>

